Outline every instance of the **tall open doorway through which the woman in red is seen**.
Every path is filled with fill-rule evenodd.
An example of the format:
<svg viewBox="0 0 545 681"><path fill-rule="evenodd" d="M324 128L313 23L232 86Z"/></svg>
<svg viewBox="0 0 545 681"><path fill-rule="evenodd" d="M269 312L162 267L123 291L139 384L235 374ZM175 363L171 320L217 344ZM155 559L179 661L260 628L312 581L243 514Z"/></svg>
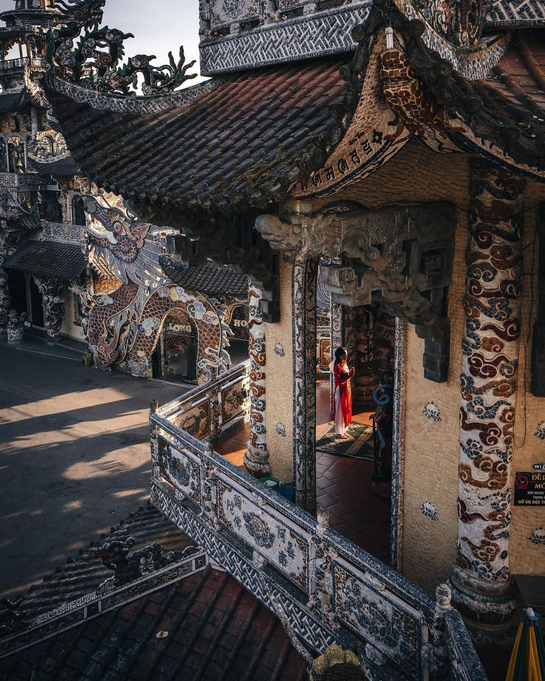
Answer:
<svg viewBox="0 0 545 681"><path fill-rule="evenodd" d="M331 307L332 351L346 347L356 369L349 439L334 433L330 375L317 372L316 385L317 505L334 530L383 563L391 543L394 337L395 319L381 306Z"/></svg>

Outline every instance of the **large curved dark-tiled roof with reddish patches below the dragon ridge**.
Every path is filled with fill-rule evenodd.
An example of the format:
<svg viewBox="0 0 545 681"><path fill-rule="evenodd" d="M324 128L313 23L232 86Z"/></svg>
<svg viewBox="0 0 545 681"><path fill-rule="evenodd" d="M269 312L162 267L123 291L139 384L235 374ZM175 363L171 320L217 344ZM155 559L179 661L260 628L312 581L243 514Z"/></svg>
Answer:
<svg viewBox="0 0 545 681"><path fill-rule="evenodd" d="M178 208L262 207L325 160L329 107L345 95L339 69L351 59L243 72L157 114L49 95L76 163L106 189Z"/></svg>

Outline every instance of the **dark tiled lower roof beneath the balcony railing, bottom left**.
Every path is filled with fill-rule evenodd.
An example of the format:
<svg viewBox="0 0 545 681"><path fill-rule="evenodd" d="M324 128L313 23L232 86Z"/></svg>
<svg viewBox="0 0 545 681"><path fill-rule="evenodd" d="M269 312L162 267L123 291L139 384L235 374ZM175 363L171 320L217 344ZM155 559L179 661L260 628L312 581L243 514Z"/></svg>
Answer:
<svg viewBox="0 0 545 681"><path fill-rule="evenodd" d="M150 504L104 535L105 541L127 537L134 537L134 550L152 541L178 550L191 543ZM47 575L17 612L28 619L93 592L112 571L92 546ZM159 631L168 635L157 638ZM306 681L307 665L266 607L227 573L208 567L0 659L0 678Z"/></svg>

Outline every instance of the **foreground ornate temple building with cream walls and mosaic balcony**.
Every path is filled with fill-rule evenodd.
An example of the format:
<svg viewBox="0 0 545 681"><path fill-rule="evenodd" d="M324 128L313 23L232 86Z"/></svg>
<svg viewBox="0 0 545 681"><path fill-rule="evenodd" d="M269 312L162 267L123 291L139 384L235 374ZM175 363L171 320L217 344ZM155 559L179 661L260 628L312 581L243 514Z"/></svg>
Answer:
<svg viewBox="0 0 545 681"><path fill-rule="evenodd" d="M30 54L79 172L131 215L127 265L125 227L84 200L108 232L92 257L146 319L178 295L214 327L200 385L151 405L153 505L311 678L335 678L339 646L339 673L486 680L474 646L509 646L520 577L545 576L545 5L202 0L211 78L181 90L183 50L122 65L104 0L59 5ZM156 277L150 224L176 263ZM215 303L172 293L209 259L251 281L249 360L227 371ZM93 301L99 363L137 361L132 338L149 355L123 296ZM374 470L317 447L339 346ZM27 622L4 654L65 624Z"/></svg>

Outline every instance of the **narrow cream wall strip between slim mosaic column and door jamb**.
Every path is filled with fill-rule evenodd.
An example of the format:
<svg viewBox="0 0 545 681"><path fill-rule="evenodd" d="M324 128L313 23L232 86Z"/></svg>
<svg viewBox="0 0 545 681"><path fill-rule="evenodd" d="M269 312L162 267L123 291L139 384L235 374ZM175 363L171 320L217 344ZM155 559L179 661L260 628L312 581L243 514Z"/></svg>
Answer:
<svg viewBox="0 0 545 681"><path fill-rule="evenodd" d="M272 475L293 479L292 264L281 257L280 321L265 325L266 428Z"/></svg>

